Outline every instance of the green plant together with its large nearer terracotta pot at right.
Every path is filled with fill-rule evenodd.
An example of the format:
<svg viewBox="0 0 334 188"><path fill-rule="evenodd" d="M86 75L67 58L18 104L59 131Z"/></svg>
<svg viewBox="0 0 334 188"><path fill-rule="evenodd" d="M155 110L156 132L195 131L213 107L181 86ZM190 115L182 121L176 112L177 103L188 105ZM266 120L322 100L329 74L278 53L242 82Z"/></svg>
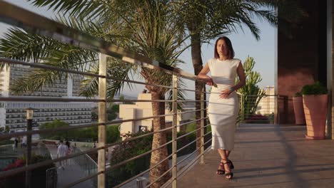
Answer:
<svg viewBox="0 0 334 188"><path fill-rule="evenodd" d="M328 90L319 82L305 85L302 89L308 139L325 139Z"/></svg>

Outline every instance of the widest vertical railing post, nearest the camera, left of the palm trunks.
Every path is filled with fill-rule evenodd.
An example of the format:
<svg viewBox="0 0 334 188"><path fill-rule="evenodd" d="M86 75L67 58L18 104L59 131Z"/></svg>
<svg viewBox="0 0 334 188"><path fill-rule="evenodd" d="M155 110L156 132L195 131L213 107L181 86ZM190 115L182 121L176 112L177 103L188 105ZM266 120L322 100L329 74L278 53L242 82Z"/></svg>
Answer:
<svg viewBox="0 0 334 188"><path fill-rule="evenodd" d="M99 53L98 74L106 76L107 56ZM106 78L98 78L98 122L106 122ZM106 124L98 125L98 147L106 146ZM98 187L106 187L106 149L98 150Z"/></svg>

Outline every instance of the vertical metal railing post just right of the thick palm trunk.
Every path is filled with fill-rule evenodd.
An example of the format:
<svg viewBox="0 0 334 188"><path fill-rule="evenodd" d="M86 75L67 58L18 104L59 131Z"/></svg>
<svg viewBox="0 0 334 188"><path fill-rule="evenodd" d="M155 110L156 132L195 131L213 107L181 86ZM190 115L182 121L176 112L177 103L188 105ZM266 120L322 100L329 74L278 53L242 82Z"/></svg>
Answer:
<svg viewBox="0 0 334 188"><path fill-rule="evenodd" d="M176 188L176 182L177 182L177 173L178 173L178 168L177 168L177 157L178 154L176 151L178 150L178 145L177 145L177 137L178 137L178 132L177 132L177 125L178 125L178 76L173 74L173 123L172 123L172 187Z"/></svg>

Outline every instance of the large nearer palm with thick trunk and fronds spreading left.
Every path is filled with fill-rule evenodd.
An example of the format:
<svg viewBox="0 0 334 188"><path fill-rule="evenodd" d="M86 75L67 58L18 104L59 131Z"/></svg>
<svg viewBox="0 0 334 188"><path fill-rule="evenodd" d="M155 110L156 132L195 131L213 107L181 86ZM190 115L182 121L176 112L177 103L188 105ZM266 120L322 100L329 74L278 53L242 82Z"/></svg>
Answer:
<svg viewBox="0 0 334 188"><path fill-rule="evenodd" d="M106 41L111 41L143 56L155 59L169 66L177 66L181 61L183 30L173 24L169 1L91 1L86 4L81 1L33 1L35 6L49 6L59 11L56 21L77 28ZM128 11L133 10L133 11ZM93 14L92 14L93 13ZM120 14L122 13L122 14ZM95 16L99 15L99 16ZM69 17L66 17L69 16ZM66 19L68 18L68 19ZM18 50L19 49L19 50ZM60 43L44 36L34 35L27 31L12 28L0 40L0 55L23 61L33 60L60 68L98 73L97 53L83 48ZM86 56L88 55L88 56ZM172 76L168 73L153 71L122 63L115 58L108 58L108 75L115 78L128 79L128 72L140 73L147 83L171 85ZM71 76L59 71L34 70L29 77L21 78L11 90L16 94L41 90L44 85L51 85L55 80ZM34 80L34 81L32 81ZM182 85L182 83L179 83ZM123 82L109 80L108 98L121 90ZM91 97L97 94L98 79L86 77L83 80L81 95ZM152 95L152 100L163 100L168 92L166 88L146 85ZM171 95L170 95L171 96ZM183 99L182 92L179 98ZM164 115L165 103L152 103L153 115ZM165 118L153 118L153 131L164 129ZM166 143L166 132L153 135L152 149ZM158 179L169 169L167 147L162 147L151 154L151 166L164 160L150 172L151 182ZM170 178L166 174L152 185L161 187Z"/></svg>

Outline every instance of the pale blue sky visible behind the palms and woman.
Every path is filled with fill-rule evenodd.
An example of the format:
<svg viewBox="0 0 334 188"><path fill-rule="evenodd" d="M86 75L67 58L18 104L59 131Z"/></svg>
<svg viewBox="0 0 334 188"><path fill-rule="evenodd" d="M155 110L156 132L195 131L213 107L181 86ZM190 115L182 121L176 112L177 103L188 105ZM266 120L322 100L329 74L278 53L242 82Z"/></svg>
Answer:
<svg viewBox="0 0 334 188"><path fill-rule="evenodd" d="M45 7L34 7L31 6L29 2L25 0L5 0L10 2L11 4L15 4L16 6L21 6L24 9L28 9L29 11L34 11L36 14L40 14L41 16L46 16L51 18L54 15L54 12L51 10L47 10ZM243 30L238 28L238 33L231 33L228 35L228 38L231 39L233 44L234 51L236 52L235 58L241 59L242 62L246 60L248 56L251 56L255 60L255 66L253 71L257 71L260 73L262 77L262 81L258 84L260 88L265 88L267 85L274 85L274 65L275 65L275 32L276 28L270 26L269 23L265 21L260 21L257 18L254 18L255 23L260 29L260 40L256 41L255 37L251 34L249 29L244 26ZM0 23L0 36L9 28L9 25L4 23ZM201 47L202 50L202 59L203 65L208 61L208 59L213 58L213 49L215 39L211 41L211 44L203 44ZM181 56L181 60L185 63L181 64L178 68L187 71L188 73L193 73L193 65L191 62L191 49L184 51ZM136 80L140 78L134 78ZM193 89L193 81L185 81L188 88ZM136 97L138 93L143 90L143 85L133 85L133 88L123 88L121 93L125 95L130 95ZM186 98L193 98L193 93L186 93Z"/></svg>

